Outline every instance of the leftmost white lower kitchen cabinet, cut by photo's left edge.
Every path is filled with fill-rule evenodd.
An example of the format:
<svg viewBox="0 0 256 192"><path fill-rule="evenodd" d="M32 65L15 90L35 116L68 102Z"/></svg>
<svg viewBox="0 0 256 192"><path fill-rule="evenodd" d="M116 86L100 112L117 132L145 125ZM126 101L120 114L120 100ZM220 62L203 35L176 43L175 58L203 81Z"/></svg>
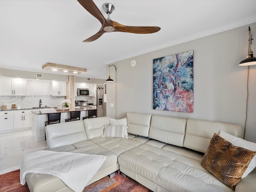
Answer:
<svg viewBox="0 0 256 192"><path fill-rule="evenodd" d="M0 111L0 131L13 130L13 111Z"/></svg>

